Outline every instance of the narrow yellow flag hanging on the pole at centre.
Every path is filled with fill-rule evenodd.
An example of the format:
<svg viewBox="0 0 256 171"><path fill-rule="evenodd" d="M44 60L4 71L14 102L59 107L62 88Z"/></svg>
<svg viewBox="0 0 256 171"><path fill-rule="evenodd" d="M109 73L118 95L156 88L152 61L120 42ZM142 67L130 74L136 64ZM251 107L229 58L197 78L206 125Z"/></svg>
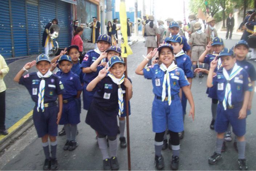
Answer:
<svg viewBox="0 0 256 171"><path fill-rule="evenodd" d="M121 49L122 57L127 57L130 54L133 54L133 51L131 50L130 46L128 45L128 37L127 37L127 16L126 16L126 7L125 7L125 2L120 3L120 10L119 10L119 15L120 15L120 23L121 23Z"/></svg>

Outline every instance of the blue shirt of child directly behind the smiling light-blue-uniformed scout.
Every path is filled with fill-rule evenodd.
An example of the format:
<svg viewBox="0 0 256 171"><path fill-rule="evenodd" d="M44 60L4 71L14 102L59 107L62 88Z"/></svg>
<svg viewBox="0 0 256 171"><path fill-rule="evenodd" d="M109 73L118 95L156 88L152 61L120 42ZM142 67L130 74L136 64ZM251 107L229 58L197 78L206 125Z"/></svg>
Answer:
<svg viewBox="0 0 256 171"><path fill-rule="evenodd" d="M177 66L181 69L183 69L185 75L188 78L193 78L193 71L192 71L192 62L190 60L190 57L186 54L183 54L181 56L175 57L175 61L177 62Z"/></svg>

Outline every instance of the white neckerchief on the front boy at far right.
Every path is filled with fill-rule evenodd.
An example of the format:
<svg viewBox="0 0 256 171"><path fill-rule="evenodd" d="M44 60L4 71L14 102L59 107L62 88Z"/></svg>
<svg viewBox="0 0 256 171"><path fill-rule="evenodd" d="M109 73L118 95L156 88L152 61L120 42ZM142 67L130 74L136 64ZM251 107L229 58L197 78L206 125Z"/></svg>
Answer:
<svg viewBox="0 0 256 171"><path fill-rule="evenodd" d="M240 66L238 66L236 63L232 69L232 72L230 75L228 75L228 72L225 68L223 68L223 75L225 77L225 79L228 81L227 85L226 85L226 88L225 88L225 97L224 97L224 100L223 100L223 107L224 107L224 110L227 109L227 101L228 101L228 104L229 106L232 106L232 102L231 102L231 85L230 85L230 81L238 74L240 73L240 71L242 70L243 68L241 68Z"/></svg>

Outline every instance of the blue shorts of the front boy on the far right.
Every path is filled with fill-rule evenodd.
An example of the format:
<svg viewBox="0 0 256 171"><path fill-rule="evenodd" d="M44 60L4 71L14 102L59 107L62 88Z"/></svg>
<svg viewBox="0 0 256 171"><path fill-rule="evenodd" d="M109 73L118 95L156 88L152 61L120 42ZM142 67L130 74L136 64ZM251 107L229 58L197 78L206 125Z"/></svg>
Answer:
<svg viewBox="0 0 256 171"><path fill-rule="evenodd" d="M217 116L215 119L215 131L217 133L225 133L230 122L232 131L237 137L241 137L246 132L246 118L238 119L239 111L241 110L242 103L234 105L233 109L224 110L222 102L218 104Z"/></svg>

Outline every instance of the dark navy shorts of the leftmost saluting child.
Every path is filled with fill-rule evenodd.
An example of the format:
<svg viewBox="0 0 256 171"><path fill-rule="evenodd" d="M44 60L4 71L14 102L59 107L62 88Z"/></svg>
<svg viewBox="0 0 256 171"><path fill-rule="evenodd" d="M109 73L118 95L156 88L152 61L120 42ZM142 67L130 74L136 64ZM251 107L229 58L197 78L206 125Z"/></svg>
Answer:
<svg viewBox="0 0 256 171"><path fill-rule="evenodd" d="M33 121L34 127L36 128L36 132L38 138L44 137L44 135L49 134L50 136L58 135L58 125L57 125L57 115L58 115L58 107L45 107L44 112L39 110L37 111L37 106L34 107L33 110Z"/></svg>

